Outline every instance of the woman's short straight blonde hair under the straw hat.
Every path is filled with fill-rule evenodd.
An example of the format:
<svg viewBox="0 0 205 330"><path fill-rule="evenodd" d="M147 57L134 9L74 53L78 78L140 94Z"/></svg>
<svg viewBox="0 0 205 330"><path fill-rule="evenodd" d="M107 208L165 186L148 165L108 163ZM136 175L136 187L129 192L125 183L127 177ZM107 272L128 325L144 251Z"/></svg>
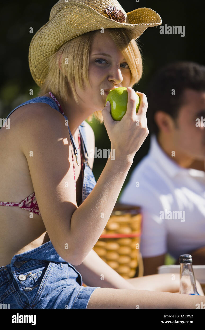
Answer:
<svg viewBox="0 0 205 330"><path fill-rule="evenodd" d="M142 58L137 41L125 28L109 28L108 35L113 39L117 48L127 61L131 71L129 86L133 87L142 76ZM38 96L51 91L58 99L60 97L65 103L68 102L68 95L73 94L78 104L77 93L74 82L80 89L84 89L89 82L89 53L95 34L99 30L84 33L76 38L67 41L55 54L49 58L49 71L45 78ZM63 59L67 59L67 62ZM59 68L61 67L61 70ZM91 121L93 116L103 123L103 116L100 110L88 116Z"/></svg>

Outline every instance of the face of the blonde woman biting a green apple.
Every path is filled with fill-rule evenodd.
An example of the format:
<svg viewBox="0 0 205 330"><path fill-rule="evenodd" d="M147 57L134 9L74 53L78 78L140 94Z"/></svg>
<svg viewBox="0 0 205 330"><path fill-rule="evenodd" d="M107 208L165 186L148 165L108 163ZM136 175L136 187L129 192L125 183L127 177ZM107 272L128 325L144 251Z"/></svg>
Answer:
<svg viewBox="0 0 205 330"><path fill-rule="evenodd" d="M107 55L102 55L106 53ZM96 55L97 54L97 55ZM110 55L110 56L109 56ZM122 53L117 49L114 41L104 30L95 35L89 55L89 79L91 88L83 91L83 98L91 100L93 111L102 110L105 106L107 94L105 89L128 87L131 72ZM82 91L81 91L82 97Z"/></svg>

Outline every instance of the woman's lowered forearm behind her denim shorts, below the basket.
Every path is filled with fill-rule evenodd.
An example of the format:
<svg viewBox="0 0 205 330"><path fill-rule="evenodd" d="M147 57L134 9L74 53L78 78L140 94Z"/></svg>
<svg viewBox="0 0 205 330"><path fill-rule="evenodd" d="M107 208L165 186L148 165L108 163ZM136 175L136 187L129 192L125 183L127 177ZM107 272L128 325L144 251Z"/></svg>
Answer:
<svg viewBox="0 0 205 330"><path fill-rule="evenodd" d="M134 289L135 287L123 279L114 269L104 262L92 249L81 265L75 266L80 272L83 283L101 288Z"/></svg>

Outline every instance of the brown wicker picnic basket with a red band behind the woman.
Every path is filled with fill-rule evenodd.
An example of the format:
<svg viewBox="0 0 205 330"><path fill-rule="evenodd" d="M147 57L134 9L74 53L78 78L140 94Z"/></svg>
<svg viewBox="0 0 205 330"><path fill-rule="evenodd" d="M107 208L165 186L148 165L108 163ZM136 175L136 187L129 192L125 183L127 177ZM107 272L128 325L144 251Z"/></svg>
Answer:
<svg viewBox="0 0 205 330"><path fill-rule="evenodd" d="M140 207L115 204L93 250L124 279L143 276Z"/></svg>

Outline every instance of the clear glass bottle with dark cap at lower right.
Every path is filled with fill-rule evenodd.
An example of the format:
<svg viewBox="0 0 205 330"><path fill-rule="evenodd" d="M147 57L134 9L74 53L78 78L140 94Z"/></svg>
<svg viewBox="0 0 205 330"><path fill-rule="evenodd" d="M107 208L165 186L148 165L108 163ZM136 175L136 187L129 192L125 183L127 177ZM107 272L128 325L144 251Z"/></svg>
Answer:
<svg viewBox="0 0 205 330"><path fill-rule="evenodd" d="M181 254L180 262L180 291L179 293L198 295L192 268L192 255Z"/></svg>

